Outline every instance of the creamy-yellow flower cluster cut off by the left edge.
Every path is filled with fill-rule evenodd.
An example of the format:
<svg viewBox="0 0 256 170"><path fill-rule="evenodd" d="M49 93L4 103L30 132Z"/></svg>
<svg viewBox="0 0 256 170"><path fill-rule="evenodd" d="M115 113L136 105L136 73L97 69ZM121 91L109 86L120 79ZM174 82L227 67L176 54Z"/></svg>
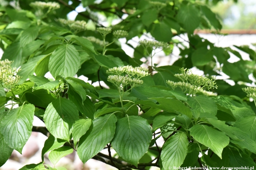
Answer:
<svg viewBox="0 0 256 170"><path fill-rule="evenodd" d="M11 61L5 59L0 61L0 81L7 86L18 84L21 77L17 75L19 69L11 67Z"/></svg>

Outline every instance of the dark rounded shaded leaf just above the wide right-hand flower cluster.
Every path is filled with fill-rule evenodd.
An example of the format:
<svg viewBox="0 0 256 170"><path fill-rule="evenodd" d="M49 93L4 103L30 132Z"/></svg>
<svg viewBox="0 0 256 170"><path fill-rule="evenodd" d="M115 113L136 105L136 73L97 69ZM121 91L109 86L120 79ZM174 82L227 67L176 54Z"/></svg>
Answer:
<svg viewBox="0 0 256 170"><path fill-rule="evenodd" d="M192 53L191 57L194 66L204 66L213 59L212 49L208 50L206 46L196 49L196 51Z"/></svg>

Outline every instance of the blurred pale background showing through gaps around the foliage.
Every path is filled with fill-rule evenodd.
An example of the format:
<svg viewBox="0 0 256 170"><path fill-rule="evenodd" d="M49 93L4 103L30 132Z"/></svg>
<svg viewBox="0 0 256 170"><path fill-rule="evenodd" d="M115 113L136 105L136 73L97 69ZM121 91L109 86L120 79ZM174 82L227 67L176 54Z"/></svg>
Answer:
<svg viewBox="0 0 256 170"><path fill-rule="evenodd" d="M96 0L95 3L97 3ZM198 0L200 1L200 0ZM7 2L5 0L0 0L0 5L6 6L6 3L13 3L14 1ZM202 1L203 2L203 1ZM72 1L69 1L69 4L72 4ZM217 47L232 47L233 45L248 45L251 49L255 50L256 43L256 0L238 0L234 2L234 0L223 0L219 2L215 2L214 0L209 0L209 7L213 10L213 12L217 13L218 17L222 21L223 30L222 33L228 35L217 35L211 34L207 30L198 30L196 33L199 36L208 39L210 42L214 43ZM76 7L75 11L71 11L68 13L68 19L74 20L78 12L85 11L86 9L82 7L82 5ZM106 18L100 14L97 14L97 17L100 18L101 24L103 26L112 26L120 22L119 19L116 18ZM123 15L122 18L126 18L126 15ZM93 27L93 26L92 26ZM138 45L139 40L142 39L150 39L150 35L143 35L140 38L134 37L133 39L128 41L128 44L136 47ZM183 41L184 45L188 46L188 38L186 35L181 37L174 37L174 39L178 39ZM126 39L120 39L122 49L129 55L133 57L134 49L125 44ZM236 49L238 50L238 49ZM238 50L244 60L250 60L249 55L245 52ZM0 51L0 57L2 56L2 51ZM158 57L154 57L153 63L158 64L158 66L171 65L179 58L179 49L178 47L174 47L174 51L170 56L165 56L164 52L158 53ZM142 58L142 60L144 60ZM240 60L238 57L230 53L229 62L236 62ZM203 74L198 71L196 68L192 69L194 73ZM221 74L218 79L224 79L227 83L233 84L232 80L229 80L229 77L224 73ZM50 74L47 74L46 77L51 77ZM82 80L87 81L88 79L84 76L79 77ZM252 78L253 79L253 78ZM255 80L253 80L255 83ZM87 81L88 82L88 81ZM89 81L89 83L91 83ZM101 85L103 85L103 81ZM98 86L97 83L93 85ZM106 85L105 85L106 86ZM33 125L44 126L44 123L38 118L34 117ZM18 170L22 166L31 163L39 163L41 162L41 150L44 146L44 141L47 139L46 136L32 132L32 135L25 147L23 148L22 155L17 151L12 153L11 158L3 165L0 170ZM161 138L159 138L159 143L161 144ZM105 154L108 154L107 150L102 151ZM114 151L112 151L112 155L114 155ZM45 159L46 164L50 164L49 160ZM112 166L108 166L96 160L89 160L85 165L79 160L76 152L70 154L64 158L62 158L58 165L64 166L68 170L111 170L115 169ZM151 170L157 168L151 168Z"/></svg>

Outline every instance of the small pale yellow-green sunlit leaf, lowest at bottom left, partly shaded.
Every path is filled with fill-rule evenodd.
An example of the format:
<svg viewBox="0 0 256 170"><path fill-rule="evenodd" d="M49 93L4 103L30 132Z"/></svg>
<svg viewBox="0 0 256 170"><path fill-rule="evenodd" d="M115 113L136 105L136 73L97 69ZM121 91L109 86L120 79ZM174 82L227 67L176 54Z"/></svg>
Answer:
<svg viewBox="0 0 256 170"><path fill-rule="evenodd" d="M49 153L49 160L51 163L53 163L53 165L55 165L59 162L60 158L65 157L70 153L73 153L73 148L69 146L62 146Z"/></svg>

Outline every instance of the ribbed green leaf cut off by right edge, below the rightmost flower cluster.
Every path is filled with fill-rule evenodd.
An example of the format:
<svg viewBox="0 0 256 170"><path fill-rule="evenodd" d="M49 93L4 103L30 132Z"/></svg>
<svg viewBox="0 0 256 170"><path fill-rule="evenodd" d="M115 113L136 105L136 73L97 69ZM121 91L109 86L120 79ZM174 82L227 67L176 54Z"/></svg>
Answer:
<svg viewBox="0 0 256 170"><path fill-rule="evenodd" d="M249 137L256 141L256 117L250 116L246 118L241 118L236 120L233 125L235 128L238 128L249 135Z"/></svg>

